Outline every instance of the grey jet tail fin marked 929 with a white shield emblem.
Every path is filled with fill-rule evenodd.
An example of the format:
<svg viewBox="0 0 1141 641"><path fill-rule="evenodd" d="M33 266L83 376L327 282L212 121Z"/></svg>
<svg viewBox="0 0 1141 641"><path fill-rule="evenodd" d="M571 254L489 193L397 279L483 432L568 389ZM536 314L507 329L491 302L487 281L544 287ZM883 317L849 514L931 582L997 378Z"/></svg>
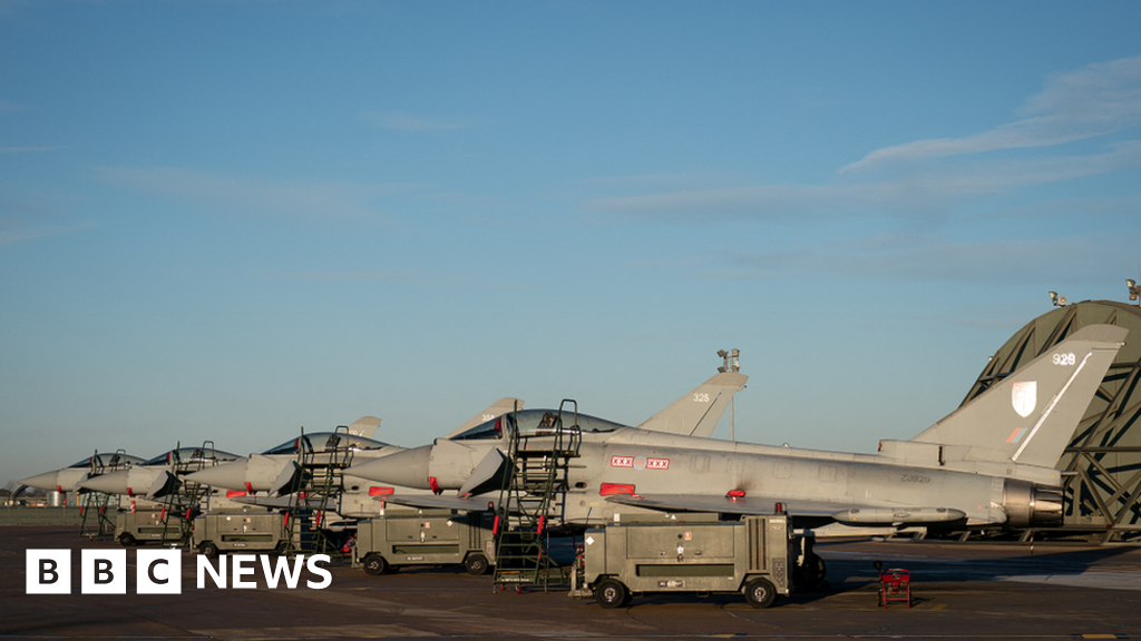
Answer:
<svg viewBox="0 0 1141 641"><path fill-rule="evenodd" d="M948 461L1053 468L1126 334L1086 325L912 441L940 445Z"/></svg>

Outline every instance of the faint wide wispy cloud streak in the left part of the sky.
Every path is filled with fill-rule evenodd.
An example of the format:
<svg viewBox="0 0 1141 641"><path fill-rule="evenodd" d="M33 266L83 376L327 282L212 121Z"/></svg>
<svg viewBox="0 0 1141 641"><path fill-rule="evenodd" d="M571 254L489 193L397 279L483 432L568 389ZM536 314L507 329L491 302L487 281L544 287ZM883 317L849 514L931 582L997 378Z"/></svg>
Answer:
<svg viewBox="0 0 1141 641"><path fill-rule="evenodd" d="M128 189L232 213L310 219L371 217L378 212L378 198L399 189L356 182L257 180L173 167L103 167L95 173Z"/></svg>

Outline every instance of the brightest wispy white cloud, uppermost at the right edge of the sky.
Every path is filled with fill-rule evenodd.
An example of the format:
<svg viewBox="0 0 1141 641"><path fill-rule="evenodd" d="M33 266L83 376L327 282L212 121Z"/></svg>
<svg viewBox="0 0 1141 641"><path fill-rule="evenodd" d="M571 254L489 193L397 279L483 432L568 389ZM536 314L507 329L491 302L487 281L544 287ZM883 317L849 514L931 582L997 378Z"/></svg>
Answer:
<svg viewBox="0 0 1141 641"><path fill-rule="evenodd" d="M1136 127L1141 124L1141 56L1053 75L1041 92L1027 99L1019 115L1025 117L962 138L931 138L883 147L840 171L998 149L1046 147Z"/></svg>

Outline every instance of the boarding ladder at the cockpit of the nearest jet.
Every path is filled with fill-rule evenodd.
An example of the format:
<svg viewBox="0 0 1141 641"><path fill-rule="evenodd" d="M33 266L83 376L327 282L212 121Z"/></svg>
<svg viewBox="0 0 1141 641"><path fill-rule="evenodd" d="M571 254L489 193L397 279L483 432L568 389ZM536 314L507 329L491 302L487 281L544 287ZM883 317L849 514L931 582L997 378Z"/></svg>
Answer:
<svg viewBox="0 0 1141 641"><path fill-rule="evenodd" d="M568 405L572 412L564 411ZM578 404L563 400L558 414L544 415L534 432L519 429L517 415L512 429L504 430L507 473L495 516L494 585L500 590L513 585L518 591L542 585L545 591L565 578L550 557L548 530L552 519L561 521L569 463L578 456Z"/></svg>

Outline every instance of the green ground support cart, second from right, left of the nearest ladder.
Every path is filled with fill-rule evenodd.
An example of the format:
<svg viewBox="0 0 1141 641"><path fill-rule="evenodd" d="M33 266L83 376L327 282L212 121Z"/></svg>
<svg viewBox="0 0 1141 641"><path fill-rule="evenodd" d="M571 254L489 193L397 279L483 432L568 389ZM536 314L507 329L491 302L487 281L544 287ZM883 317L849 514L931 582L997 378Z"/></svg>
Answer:
<svg viewBox="0 0 1141 641"><path fill-rule="evenodd" d="M357 524L353 567L371 575L402 566L459 565L483 575L495 558L489 512L454 514L451 510L387 510Z"/></svg>

